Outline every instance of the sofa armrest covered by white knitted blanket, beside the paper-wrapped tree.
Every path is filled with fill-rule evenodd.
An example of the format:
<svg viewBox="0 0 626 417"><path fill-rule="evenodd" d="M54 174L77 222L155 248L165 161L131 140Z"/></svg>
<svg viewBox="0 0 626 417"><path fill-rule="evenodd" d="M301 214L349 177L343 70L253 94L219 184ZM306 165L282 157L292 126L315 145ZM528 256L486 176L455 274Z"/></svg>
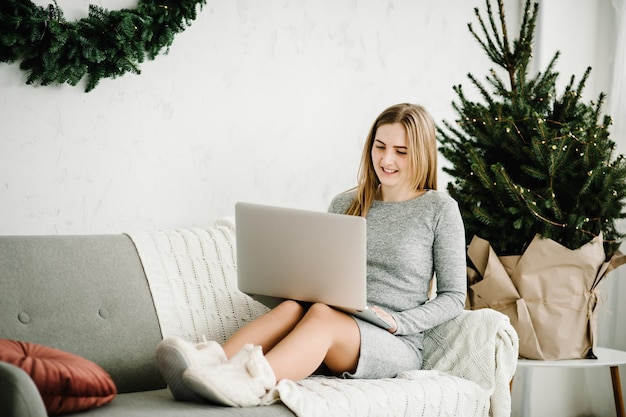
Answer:
<svg viewBox="0 0 626 417"><path fill-rule="evenodd" d="M424 369L474 381L491 393L491 415L510 415L519 339L506 315L488 308L463 310L424 336Z"/></svg>

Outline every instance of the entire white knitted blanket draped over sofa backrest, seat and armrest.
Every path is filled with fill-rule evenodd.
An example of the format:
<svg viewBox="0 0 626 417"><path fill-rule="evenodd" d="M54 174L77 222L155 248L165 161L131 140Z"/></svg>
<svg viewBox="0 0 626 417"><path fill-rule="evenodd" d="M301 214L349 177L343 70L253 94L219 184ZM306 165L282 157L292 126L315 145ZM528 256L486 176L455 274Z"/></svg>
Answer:
<svg viewBox="0 0 626 417"><path fill-rule="evenodd" d="M163 336L223 342L267 309L237 289L234 224L129 233ZM312 376L281 381L276 396L299 417L494 416L511 413L517 335L493 310L464 311L426 333L424 370L396 378ZM278 398L277 398L278 399Z"/></svg>

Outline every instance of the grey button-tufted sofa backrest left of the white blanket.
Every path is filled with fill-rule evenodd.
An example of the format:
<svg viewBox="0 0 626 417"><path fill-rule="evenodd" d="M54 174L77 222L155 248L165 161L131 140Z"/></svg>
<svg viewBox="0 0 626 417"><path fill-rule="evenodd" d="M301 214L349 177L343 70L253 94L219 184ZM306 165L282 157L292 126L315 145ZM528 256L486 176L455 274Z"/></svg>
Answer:
<svg viewBox="0 0 626 417"><path fill-rule="evenodd" d="M128 236L0 236L0 289L0 338L88 358L118 393L165 388L159 322Z"/></svg>

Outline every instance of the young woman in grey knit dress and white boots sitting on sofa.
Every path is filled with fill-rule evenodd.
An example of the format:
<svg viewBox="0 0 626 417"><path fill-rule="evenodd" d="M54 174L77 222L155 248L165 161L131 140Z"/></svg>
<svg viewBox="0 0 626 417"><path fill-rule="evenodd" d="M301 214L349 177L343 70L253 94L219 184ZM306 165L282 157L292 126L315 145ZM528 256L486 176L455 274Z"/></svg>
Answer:
<svg viewBox="0 0 626 417"><path fill-rule="evenodd" d="M436 191L435 125L419 105L398 104L375 120L358 186L330 212L367 219L368 303L383 330L325 304L285 301L222 346L165 339L161 372L179 400L251 406L283 378L321 365L346 378L394 377L420 369L423 332L457 316L466 290L465 233L456 202ZM428 300L436 276L437 296Z"/></svg>

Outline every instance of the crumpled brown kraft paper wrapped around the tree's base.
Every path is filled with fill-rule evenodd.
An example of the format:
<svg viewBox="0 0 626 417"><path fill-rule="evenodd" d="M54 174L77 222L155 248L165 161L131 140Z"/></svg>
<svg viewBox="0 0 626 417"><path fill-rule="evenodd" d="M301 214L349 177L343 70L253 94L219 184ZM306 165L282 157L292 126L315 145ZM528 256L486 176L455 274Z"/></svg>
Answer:
<svg viewBox="0 0 626 417"><path fill-rule="evenodd" d="M506 314L528 359L593 358L596 320L602 305L598 285L626 262L604 260L602 236L578 249L535 236L521 256L498 257L484 239L468 247L468 300L473 309Z"/></svg>

